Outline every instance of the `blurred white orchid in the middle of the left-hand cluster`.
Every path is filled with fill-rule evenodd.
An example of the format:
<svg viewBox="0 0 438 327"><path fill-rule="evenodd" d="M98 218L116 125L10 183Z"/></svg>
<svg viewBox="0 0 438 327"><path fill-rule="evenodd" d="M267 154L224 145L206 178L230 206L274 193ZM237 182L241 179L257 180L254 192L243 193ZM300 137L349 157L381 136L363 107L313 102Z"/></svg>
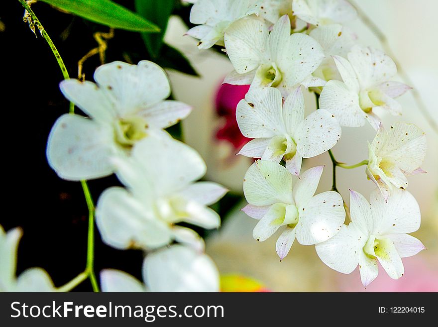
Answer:
<svg viewBox="0 0 438 327"><path fill-rule="evenodd" d="M128 190L111 187L99 199L96 221L107 244L150 249L176 240L202 249L204 242L196 232L175 224L219 227L219 215L207 206L227 190L195 182L205 175L206 164L188 145L149 136L134 146L130 158L114 164Z"/></svg>

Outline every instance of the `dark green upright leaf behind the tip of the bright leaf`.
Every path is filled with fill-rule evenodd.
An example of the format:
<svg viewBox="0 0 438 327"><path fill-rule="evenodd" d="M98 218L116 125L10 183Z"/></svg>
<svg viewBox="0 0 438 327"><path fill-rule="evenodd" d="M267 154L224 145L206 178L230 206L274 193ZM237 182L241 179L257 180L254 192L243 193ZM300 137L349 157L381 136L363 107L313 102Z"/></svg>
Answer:
<svg viewBox="0 0 438 327"><path fill-rule="evenodd" d="M147 51L152 58L157 58L163 46L163 37L167 23L174 7L174 0L135 0L137 13L160 27L161 32L155 34L142 33Z"/></svg>

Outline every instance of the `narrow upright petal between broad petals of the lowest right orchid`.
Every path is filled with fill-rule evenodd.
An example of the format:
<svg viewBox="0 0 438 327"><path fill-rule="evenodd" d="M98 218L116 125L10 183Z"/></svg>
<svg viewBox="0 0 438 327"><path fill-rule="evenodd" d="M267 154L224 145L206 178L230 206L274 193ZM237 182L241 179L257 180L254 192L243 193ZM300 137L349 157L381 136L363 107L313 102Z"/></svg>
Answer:
<svg viewBox="0 0 438 327"><path fill-rule="evenodd" d="M352 190L350 190L350 217L363 235L368 237L371 234L373 231L371 206L362 194Z"/></svg>

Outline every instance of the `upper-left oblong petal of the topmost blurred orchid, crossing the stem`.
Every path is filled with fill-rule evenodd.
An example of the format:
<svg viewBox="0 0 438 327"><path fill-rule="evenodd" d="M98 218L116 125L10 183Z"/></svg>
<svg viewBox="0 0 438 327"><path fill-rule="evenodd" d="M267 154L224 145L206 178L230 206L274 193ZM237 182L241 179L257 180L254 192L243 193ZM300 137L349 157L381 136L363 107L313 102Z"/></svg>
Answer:
<svg viewBox="0 0 438 327"><path fill-rule="evenodd" d="M113 99L92 82L70 79L59 83L59 88L79 109L102 123L110 123L117 115Z"/></svg>

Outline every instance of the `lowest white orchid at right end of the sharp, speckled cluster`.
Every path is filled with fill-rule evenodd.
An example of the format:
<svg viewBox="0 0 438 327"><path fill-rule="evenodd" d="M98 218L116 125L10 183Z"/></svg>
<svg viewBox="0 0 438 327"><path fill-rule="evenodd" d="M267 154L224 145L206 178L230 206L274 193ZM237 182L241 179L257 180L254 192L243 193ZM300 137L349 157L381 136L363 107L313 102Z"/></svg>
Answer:
<svg viewBox="0 0 438 327"><path fill-rule="evenodd" d="M343 274L359 265L360 278L367 287L378 275L380 262L389 277L404 274L401 258L417 254L425 247L408 235L420 227L420 208L407 191L395 190L388 198L379 190L371 194L370 203L360 194L350 191L349 225L324 243L316 245L323 262Z"/></svg>

